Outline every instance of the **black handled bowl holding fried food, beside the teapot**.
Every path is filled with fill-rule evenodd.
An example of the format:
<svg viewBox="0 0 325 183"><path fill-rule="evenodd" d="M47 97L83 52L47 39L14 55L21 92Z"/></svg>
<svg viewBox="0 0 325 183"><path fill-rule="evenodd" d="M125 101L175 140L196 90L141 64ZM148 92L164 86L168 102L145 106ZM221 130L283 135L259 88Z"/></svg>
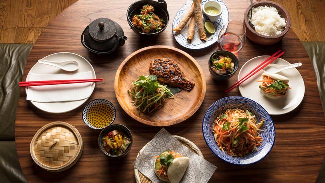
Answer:
<svg viewBox="0 0 325 183"><path fill-rule="evenodd" d="M154 7L154 14L158 15L159 18L162 18L164 20L165 26L158 32L155 33L142 33L137 30L132 24L133 16L136 14L140 14L141 8L143 5L152 5ZM130 5L127 9L127 22L128 25L130 25L131 29L138 35L144 36L144 37L153 37L160 35L168 26L169 23L169 13L167 11L167 3L164 0L140 0L137 2L134 2L132 5Z"/></svg>

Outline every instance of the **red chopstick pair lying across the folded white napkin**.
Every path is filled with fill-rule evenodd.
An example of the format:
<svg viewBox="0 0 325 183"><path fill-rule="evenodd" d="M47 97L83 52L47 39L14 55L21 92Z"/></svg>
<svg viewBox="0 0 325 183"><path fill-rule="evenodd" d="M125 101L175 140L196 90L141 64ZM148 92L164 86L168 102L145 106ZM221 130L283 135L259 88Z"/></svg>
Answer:
<svg viewBox="0 0 325 183"><path fill-rule="evenodd" d="M41 81L27 81L19 82L19 87L28 86L45 86L45 85L58 85L58 84L76 84L85 82L101 82L104 79L75 79L75 80L41 80Z"/></svg>

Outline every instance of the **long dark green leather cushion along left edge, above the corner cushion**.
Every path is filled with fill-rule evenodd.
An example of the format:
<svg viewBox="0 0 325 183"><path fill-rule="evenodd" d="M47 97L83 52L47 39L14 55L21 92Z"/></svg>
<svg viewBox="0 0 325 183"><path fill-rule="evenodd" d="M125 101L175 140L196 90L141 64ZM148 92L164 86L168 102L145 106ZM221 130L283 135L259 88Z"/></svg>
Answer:
<svg viewBox="0 0 325 183"><path fill-rule="evenodd" d="M0 141L14 140L16 108L32 44L0 44Z"/></svg>

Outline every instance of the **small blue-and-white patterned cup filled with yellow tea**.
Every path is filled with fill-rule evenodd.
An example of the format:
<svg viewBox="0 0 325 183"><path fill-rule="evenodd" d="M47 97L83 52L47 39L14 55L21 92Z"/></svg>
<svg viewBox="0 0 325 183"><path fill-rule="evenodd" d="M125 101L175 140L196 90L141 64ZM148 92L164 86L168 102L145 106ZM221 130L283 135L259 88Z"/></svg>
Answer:
<svg viewBox="0 0 325 183"><path fill-rule="evenodd" d="M115 118L114 105L105 99L90 101L82 111L83 122L92 129L103 129L113 123Z"/></svg>

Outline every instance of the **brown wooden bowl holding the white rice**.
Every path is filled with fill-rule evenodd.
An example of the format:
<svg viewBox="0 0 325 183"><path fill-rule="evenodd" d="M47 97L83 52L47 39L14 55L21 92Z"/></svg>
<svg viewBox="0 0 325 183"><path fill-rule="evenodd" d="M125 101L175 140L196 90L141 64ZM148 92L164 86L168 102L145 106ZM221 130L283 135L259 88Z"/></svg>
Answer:
<svg viewBox="0 0 325 183"><path fill-rule="evenodd" d="M276 9L278 9L279 15L285 19L286 27L281 34L276 35L276 36L266 36L266 35L259 34L255 30L253 30L252 27L248 23L248 13L250 11L250 6L247 8L245 15L244 15L244 25L246 27L246 36L251 41L253 41L257 44L261 44L261 45L271 45L271 44L275 44L275 43L279 42L280 40L282 40L284 35L289 31L290 26L291 26L291 18L290 18L288 11L278 3L268 1L268 0L262 0L262 1L253 3L253 7L265 6L265 5L273 6Z"/></svg>

